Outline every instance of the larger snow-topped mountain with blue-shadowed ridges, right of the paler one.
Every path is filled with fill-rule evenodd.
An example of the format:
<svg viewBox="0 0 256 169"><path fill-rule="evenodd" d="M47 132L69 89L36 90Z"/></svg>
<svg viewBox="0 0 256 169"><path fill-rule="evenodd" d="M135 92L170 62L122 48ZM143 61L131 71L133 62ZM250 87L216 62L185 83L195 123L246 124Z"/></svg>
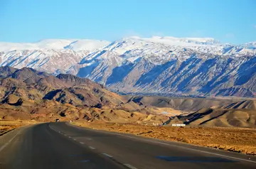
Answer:
<svg viewBox="0 0 256 169"><path fill-rule="evenodd" d="M119 92L255 97L256 50L249 47L207 39L124 38L68 72Z"/></svg>

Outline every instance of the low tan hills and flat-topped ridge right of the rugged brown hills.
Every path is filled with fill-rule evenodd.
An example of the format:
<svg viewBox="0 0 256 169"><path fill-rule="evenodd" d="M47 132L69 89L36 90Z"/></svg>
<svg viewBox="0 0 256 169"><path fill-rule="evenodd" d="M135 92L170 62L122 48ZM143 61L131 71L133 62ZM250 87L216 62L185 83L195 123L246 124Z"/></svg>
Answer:
<svg viewBox="0 0 256 169"><path fill-rule="evenodd" d="M256 127L255 99L126 97L141 107L170 107L182 111L169 114L166 125Z"/></svg>

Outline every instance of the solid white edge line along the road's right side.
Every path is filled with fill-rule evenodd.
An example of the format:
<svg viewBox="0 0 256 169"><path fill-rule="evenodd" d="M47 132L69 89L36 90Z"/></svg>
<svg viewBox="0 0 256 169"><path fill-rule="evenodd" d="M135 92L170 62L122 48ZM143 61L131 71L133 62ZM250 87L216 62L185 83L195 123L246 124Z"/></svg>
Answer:
<svg viewBox="0 0 256 169"><path fill-rule="evenodd" d="M124 135L122 135L122 136L124 136ZM256 163L256 161L253 161L253 160L246 160L246 159L243 159L243 158L225 156L225 155L218 154L218 153L210 153L208 151L201 151L201 150L197 150L197 149L193 149L193 148L186 148L186 147L182 147L182 146L171 145L169 143L162 143L162 142L159 142L159 141L150 141L150 140L135 138L135 137L131 137L131 136L126 136L126 137L134 138L134 139L137 139L137 140L149 141L149 142L152 142L152 143L164 144L166 146L173 146L173 147L177 147L177 148L183 148L183 149L190 150L190 151L198 151L198 152L201 152L201 153L208 153L208 154L212 154L212 155L215 155L215 156L222 156L222 157L225 157L225 158L233 158L233 159L236 159L236 160L244 160L244 161L247 161L247 162Z"/></svg>

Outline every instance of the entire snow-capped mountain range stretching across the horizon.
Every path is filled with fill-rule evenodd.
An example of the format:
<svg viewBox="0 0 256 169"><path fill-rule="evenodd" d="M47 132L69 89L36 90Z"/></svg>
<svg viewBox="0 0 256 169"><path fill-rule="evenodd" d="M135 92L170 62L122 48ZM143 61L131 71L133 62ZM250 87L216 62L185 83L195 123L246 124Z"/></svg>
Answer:
<svg viewBox="0 0 256 169"><path fill-rule="evenodd" d="M256 43L129 37L0 43L0 65L68 73L117 92L256 97Z"/></svg>

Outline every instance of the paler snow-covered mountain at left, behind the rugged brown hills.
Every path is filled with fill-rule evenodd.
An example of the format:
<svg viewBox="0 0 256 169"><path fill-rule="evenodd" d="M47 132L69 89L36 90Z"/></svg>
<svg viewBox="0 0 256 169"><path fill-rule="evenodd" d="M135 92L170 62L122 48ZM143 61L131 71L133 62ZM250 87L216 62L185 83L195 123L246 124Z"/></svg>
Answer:
<svg viewBox="0 0 256 169"><path fill-rule="evenodd" d="M41 40L38 43L0 43L0 65L32 67L46 72L65 72L105 40Z"/></svg>

